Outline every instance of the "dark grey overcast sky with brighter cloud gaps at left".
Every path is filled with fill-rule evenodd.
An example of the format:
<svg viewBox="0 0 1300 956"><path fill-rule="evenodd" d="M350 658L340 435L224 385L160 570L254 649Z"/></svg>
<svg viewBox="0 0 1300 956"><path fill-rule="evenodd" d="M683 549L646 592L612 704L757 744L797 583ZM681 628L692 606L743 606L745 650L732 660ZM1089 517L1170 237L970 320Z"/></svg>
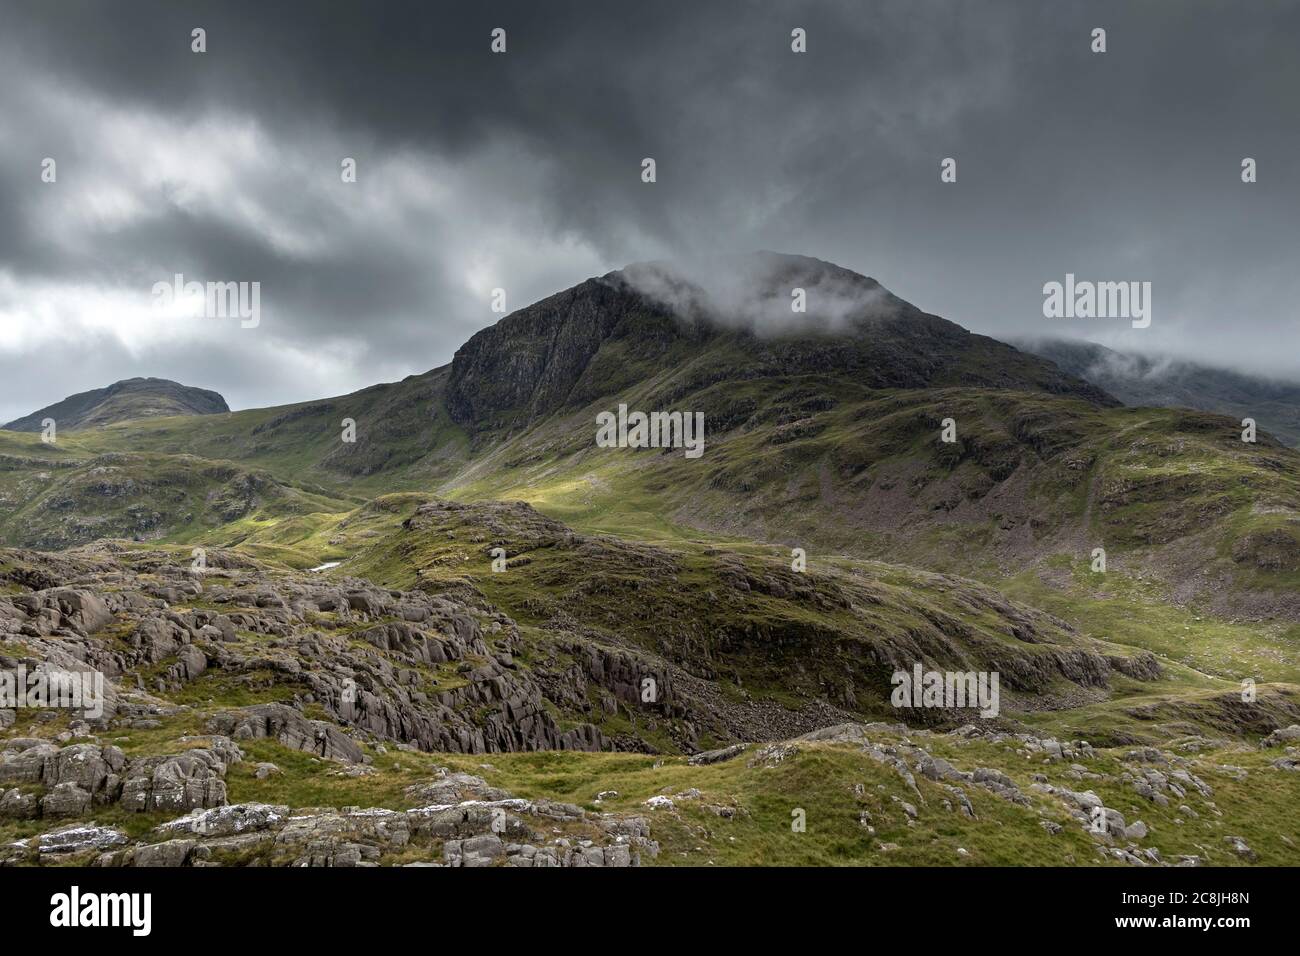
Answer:
<svg viewBox="0 0 1300 956"><path fill-rule="evenodd" d="M1270 0L0 0L0 421L139 375L339 394L450 360L494 287L758 248L1300 377L1297 39ZM1045 319L1067 272L1150 281L1150 328ZM174 273L260 282L260 325L153 308Z"/></svg>

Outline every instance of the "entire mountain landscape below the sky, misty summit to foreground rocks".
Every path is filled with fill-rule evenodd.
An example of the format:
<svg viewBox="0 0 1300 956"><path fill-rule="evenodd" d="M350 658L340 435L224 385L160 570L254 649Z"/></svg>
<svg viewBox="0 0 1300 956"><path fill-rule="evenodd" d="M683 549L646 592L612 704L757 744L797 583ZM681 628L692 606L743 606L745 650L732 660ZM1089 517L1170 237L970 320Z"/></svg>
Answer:
<svg viewBox="0 0 1300 956"><path fill-rule="evenodd" d="M702 454L598 445L620 405ZM1300 862L1300 454L814 259L629 267L348 395L0 432L0 545L4 659L110 705L0 709L0 865ZM901 709L918 666L998 713Z"/></svg>

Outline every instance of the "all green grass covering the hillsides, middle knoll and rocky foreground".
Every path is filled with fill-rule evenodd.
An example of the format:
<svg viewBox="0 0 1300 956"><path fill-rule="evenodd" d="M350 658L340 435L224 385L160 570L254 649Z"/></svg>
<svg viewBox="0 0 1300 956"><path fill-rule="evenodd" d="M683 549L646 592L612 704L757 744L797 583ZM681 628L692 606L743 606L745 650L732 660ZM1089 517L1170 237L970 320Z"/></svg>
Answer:
<svg viewBox="0 0 1300 956"><path fill-rule="evenodd" d="M698 354L681 346L664 364L640 341L620 338L597 356L573 393L586 405L528 427L515 427L517 410L503 410L473 434L447 414L445 371L299 406L70 432L53 446L0 432L0 541L61 549L120 537L174 549L178 559L209 546L272 567L341 562L322 579L481 596L520 624L523 667L572 662L564 640L576 628L592 644L696 669L732 705L829 700L893 719L887 669L874 656L881 649L962 670L1054 648L1147 650L1161 659L1161 680L1113 675L1108 692L1072 697L1078 688L1049 680L1036 691L1050 709L1026 700L1010 708L1014 719L1114 745L1093 767L1112 778L1123 770L1126 741L1238 741L1197 758L1222 818L1199 808L1197 818L1179 822L1176 805L1145 804L1115 780L1070 782L1063 765L1034 763L1013 748L928 743L965 769L1005 770L1026 792L1035 773L1092 787L1130 822L1150 825L1147 844L1166 857L1235 864L1222 839L1232 834L1261 862L1300 862L1282 839L1297 775L1273 770L1275 754L1245 745L1261 721L1284 718L1300 685L1300 624L1284 611L1300 589L1297 453L1243 445L1232 423L1213 415L963 388L961 369L931 389L872 390L849 376L736 375L751 358L734 343ZM594 449L594 411L619 401L707 410L705 457ZM343 418L358 421L354 446L339 441ZM937 441L945 418L958 423L956 445ZM434 497L482 507L403 528ZM580 541L566 542L563 529L540 518L494 516L489 502L502 499L530 503ZM494 545L510 554L504 574L490 571ZM794 546L807 551L803 575L789 570ZM1088 570L1096 546L1108 553L1105 575ZM22 591L16 561L0 561L0 594ZM1013 622L1028 622L1039 640L1015 637ZM126 637L118 630L96 640ZM462 680L454 667L424 676L437 689ZM1262 717L1230 706L1247 676L1261 682ZM174 696L190 709L117 736L131 756L174 752L179 736L202 734L212 710L292 692L269 671L213 670ZM607 734L679 749L668 721L650 728L634 710L556 708L554 717L562 726L594 719ZM718 727L697 731L706 745L725 739ZM968 821L942 810L945 792L919 780L924 803L907 826L890 797L914 796L897 774L846 747L803 745L775 767L616 753L389 752L374 753L376 773L359 778L274 741L244 749L247 761L228 779L231 800L292 806L396 809L404 787L439 765L589 808L598 791L618 790L607 806L629 812L660 791L696 787L699 801L644 810L664 848L659 864L1097 862L1092 840L1039 797L1026 809L966 787L978 812ZM257 780L260 760L283 774ZM1234 779L1223 763L1247 778ZM807 813L806 832L790 831L796 808ZM858 823L862 810L875 835ZM133 834L155 822L127 816ZM1041 818L1065 829L1049 838ZM5 822L0 839L32 826ZM898 849L883 852L880 843Z"/></svg>

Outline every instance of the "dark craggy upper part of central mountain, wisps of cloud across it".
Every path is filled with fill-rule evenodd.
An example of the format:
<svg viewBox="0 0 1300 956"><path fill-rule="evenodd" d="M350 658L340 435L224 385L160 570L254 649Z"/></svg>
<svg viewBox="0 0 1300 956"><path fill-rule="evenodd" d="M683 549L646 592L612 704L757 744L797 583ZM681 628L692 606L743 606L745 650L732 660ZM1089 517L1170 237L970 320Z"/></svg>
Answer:
<svg viewBox="0 0 1300 956"><path fill-rule="evenodd" d="M634 384L641 363L662 375L720 345L732 365L696 389L723 377L820 372L870 388L1010 388L1118 405L1050 362L972 336L831 263L763 252L719 260L716 271L685 277L677 267L630 265L506 316L456 351L446 393L451 416L471 432L520 428ZM738 282L753 284L753 308L737 315L727 293ZM750 312L763 313L764 303L781 300L789 315L793 286L833 290L835 316L779 334L755 328Z"/></svg>

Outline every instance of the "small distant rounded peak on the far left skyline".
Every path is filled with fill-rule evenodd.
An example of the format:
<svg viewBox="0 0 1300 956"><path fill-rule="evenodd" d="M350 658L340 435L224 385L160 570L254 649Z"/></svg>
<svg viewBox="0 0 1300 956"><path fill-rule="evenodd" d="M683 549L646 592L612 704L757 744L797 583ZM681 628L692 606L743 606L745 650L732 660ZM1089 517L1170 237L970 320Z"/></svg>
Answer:
<svg viewBox="0 0 1300 956"><path fill-rule="evenodd" d="M217 415L230 411L216 392L195 389L166 378L126 378L104 389L82 392L46 408L14 419L10 432L39 432L53 419L61 432L101 428L114 421L172 415Z"/></svg>

